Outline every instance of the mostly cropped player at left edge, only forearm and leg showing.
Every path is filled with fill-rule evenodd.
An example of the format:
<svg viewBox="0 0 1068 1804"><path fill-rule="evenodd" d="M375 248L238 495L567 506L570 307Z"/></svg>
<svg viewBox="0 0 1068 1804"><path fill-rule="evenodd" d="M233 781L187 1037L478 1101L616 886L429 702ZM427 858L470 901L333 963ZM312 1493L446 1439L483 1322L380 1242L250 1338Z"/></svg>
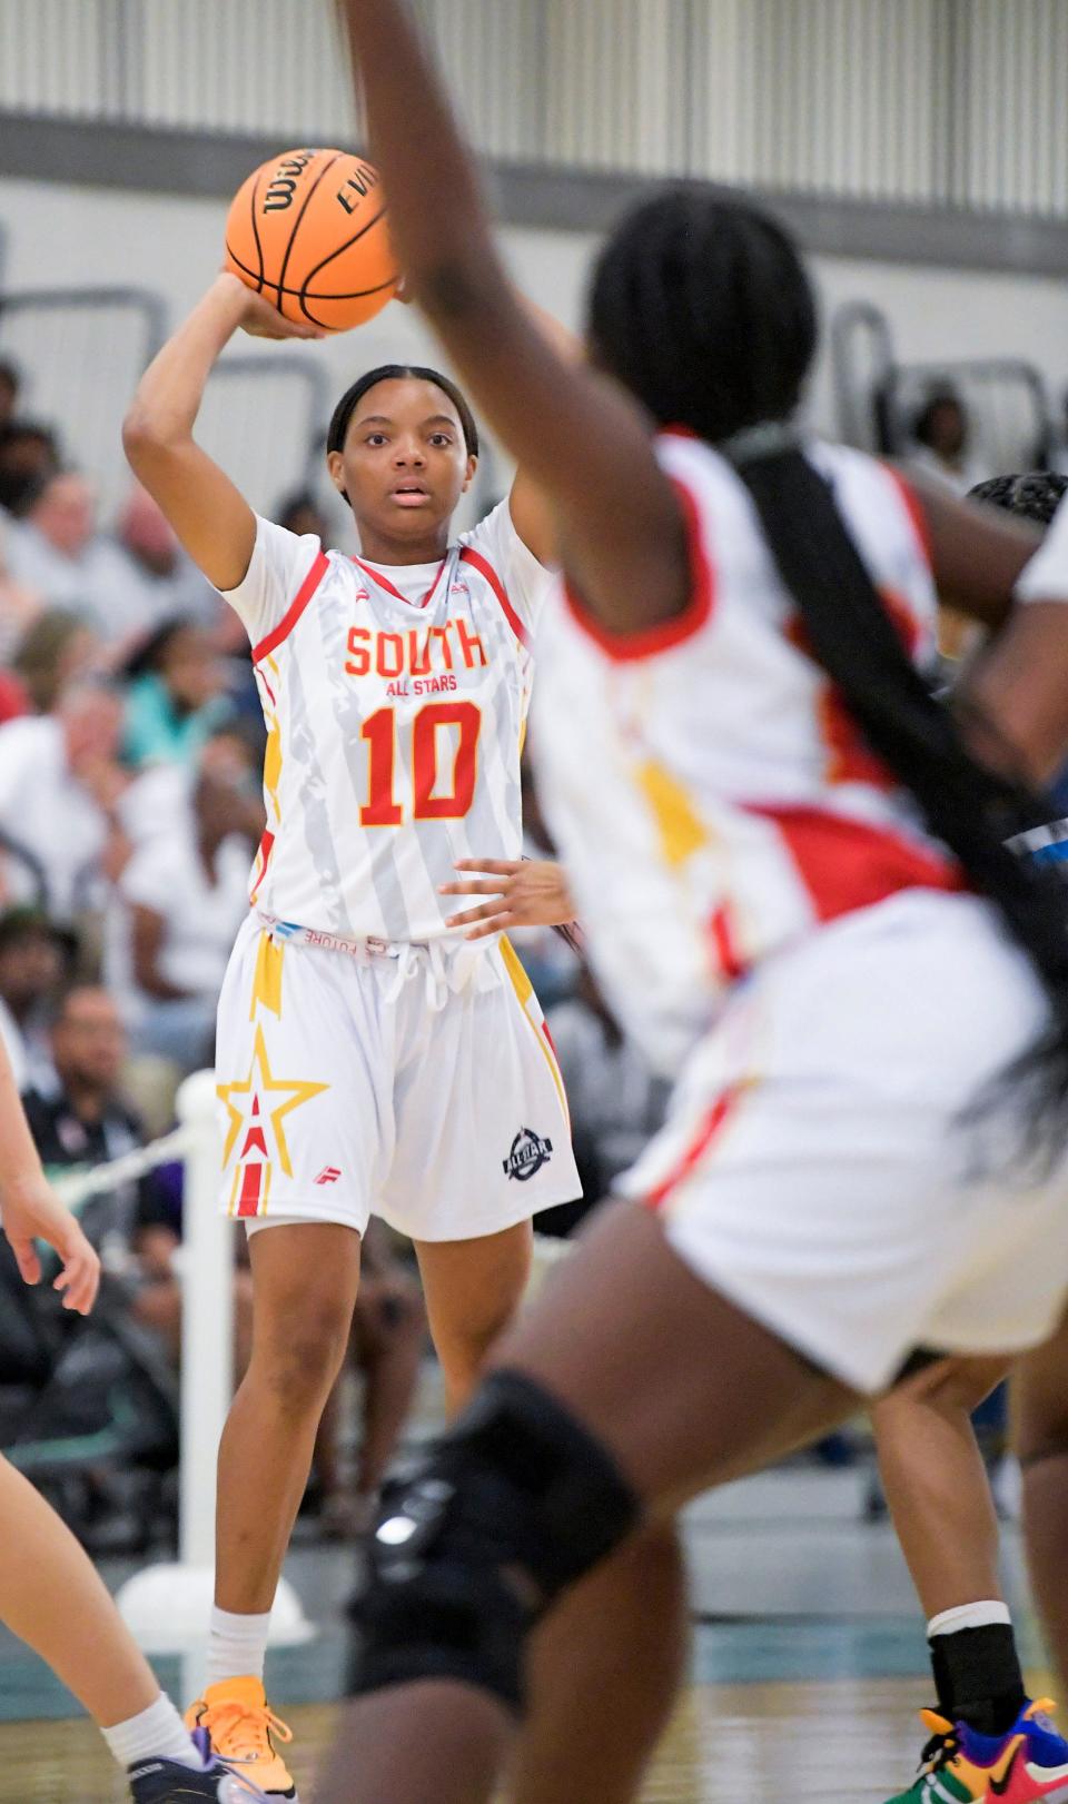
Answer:
<svg viewBox="0 0 1068 1804"><path fill-rule="evenodd" d="M41 1279L36 1243L60 1257L52 1288L76 1315L92 1310L99 1259L51 1192L0 1045L0 1200L4 1234L27 1284ZM263 1799L191 1737L70 1530L0 1458L0 1620L51 1665L99 1726L134 1804L253 1804Z"/></svg>

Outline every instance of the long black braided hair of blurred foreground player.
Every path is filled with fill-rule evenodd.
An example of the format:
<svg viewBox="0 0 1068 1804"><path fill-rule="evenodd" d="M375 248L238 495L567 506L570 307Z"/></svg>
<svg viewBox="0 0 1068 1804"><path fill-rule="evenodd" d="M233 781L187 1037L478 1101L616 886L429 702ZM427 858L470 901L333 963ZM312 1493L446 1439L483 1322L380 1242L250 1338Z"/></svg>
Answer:
<svg viewBox="0 0 1068 1804"><path fill-rule="evenodd" d="M658 426L736 467L806 628L812 657L931 833L996 904L1048 998L1048 1025L1005 1073L1052 1155L1068 1133L1068 898L1005 844L1050 819L1023 779L989 769L911 662L835 505L788 422L815 352L812 287L792 238L749 202L693 186L640 202L594 272L590 345Z"/></svg>

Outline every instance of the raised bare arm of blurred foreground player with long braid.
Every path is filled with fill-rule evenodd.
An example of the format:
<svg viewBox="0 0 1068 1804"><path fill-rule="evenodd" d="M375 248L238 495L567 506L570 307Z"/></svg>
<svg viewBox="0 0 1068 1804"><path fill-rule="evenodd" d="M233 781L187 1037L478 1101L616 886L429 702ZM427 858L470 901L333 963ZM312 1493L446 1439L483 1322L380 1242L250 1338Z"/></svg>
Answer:
<svg viewBox="0 0 1068 1804"><path fill-rule="evenodd" d="M474 161L402 0L337 0L366 90L406 292L547 496L568 575L606 624L682 612L682 518L640 410L574 368L516 301Z"/></svg>

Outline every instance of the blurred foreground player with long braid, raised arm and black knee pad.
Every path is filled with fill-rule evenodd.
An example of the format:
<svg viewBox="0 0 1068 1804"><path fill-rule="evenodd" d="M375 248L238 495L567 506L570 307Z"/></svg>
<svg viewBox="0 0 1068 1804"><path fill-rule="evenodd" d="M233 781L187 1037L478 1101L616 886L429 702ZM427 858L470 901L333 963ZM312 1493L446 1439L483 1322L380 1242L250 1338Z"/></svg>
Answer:
<svg viewBox="0 0 1068 1804"><path fill-rule="evenodd" d="M543 797L610 1001L677 1081L626 1200L375 1535L328 1804L473 1804L532 1625L644 1521L1057 1319L1068 933L1005 839L1068 743L1043 601L1068 568L1036 592L1016 521L803 440L812 289L741 202L639 206L594 278L595 370L565 370L408 9L341 11L410 290L556 511ZM967 729L918 675L936 584L1001 628ZM621 1676L621 1723L642 1690ZM960 1739L990 1797L1068 1786L1027 1712Z"/></svg>

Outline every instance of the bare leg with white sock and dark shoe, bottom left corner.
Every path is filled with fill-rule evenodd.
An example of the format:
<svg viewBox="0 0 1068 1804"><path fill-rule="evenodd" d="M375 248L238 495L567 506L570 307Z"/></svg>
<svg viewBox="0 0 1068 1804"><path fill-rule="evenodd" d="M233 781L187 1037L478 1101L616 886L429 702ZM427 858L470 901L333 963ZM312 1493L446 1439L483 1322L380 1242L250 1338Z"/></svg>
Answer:
<svg viewBox="0 0 1068 1804"><path fill-rule="evenodd" d="M162 1804L180 1777L184 1797L222 1799L222 1770L206 1768L83 1548L5 1459L0 1521L0 1620L85 1705L134 1797Z"/></svg>

